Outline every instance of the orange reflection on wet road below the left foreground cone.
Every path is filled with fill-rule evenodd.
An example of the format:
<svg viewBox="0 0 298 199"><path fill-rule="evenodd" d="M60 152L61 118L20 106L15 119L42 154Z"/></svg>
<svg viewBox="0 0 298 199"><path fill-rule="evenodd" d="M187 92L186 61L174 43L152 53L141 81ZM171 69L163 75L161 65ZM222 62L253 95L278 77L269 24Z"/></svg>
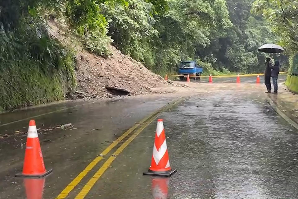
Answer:
<svg viewBox="0 0 298 199"><path fill-rule="evenodd" d="M25 178L27 199L42 199L45 178Z"/></svg>

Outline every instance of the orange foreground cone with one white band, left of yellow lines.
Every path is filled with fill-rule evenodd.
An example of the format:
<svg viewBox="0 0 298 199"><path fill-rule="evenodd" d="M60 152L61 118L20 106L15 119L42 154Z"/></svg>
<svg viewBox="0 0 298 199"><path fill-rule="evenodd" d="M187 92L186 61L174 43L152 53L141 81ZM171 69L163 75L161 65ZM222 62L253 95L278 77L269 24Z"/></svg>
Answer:
<svg viewBox="0 0 298 199"><path fill-rule="evenodd" d="M44 177L51 173L53 169L46 170L43 162L35 121L29 122L27 133L27 143L25 151L25 160L23 173L16 174L16 177Z"/></svg>

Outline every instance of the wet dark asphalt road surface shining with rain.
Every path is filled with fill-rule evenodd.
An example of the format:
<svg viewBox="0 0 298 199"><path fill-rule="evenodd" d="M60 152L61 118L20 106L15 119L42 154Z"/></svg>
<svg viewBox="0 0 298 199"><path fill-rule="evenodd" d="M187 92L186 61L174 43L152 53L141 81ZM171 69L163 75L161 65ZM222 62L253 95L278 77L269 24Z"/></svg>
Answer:
<svg viewBox="0 0 298 199"><path fill-rule="evenodd" d="M201 93L161 113L170 164L178 173L171 178L142 175L150 165L155 119L117 155L85 198L297 198L298 132L271 108L259 87ZM0 142L0 198L26 198L26 189L27 196L39 191L30 189L38 183L25 184L13 177L22 168L21 143L26 139L17 131L26 131L28 120L3 124L63 109L36 118L46 167L54 169L45 179L43 198L55 198L112 141L176 98L71 102L0 115L0 134L11 134ZM65 123L74 126L47 131ZM120 145L66 198L75 198Z"/></svg>

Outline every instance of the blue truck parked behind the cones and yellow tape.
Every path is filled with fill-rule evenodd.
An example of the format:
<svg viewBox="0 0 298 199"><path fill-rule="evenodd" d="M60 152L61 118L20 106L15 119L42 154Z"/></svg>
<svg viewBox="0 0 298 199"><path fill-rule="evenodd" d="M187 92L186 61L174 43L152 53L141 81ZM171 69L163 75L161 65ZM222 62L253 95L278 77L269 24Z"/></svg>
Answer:
<svg viewBox="0 0 298 199"><path fill-rule="evenodd" d="M184 61L180 62L178 75L181 81L185 81L187 75L189 76L201 76L203 68L196 64L196 61ZM200 80L200 77L190 77L194 80Z"/></svg>

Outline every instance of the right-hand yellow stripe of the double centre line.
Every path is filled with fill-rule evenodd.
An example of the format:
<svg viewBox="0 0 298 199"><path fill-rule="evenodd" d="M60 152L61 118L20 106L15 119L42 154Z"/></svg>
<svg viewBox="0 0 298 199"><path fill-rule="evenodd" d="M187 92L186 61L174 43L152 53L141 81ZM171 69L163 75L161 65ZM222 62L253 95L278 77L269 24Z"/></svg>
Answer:
<svg viewBox="0 0 298 199"><path fill-rule="evenodd" d="M109 168L109 166L112 164L112 162L115 160L116 156L119 155L122 150L125 149L125 147L127 145L129 145L129 143L131 141L133 141L133 139L135 137L138 136L138 134L140 134L140 132L142 132L153 120L155 120L158 117L158 115L156 115L154 118L152 118L150 120L150 122L143 124L141 128L139 128L131 137L129 137L117 150L116 152L109 157L108 160L106 160L106 162L102 165L102 167L93 175L93 177L88 181L88 183L83 187L83 189L79 192L79 194L75 197L75 199L83 199L88 192L91 190L91 188L94 186L94 184L97 182L97 180L102 176L102 174L106 171L107 168Z"/></svg>

